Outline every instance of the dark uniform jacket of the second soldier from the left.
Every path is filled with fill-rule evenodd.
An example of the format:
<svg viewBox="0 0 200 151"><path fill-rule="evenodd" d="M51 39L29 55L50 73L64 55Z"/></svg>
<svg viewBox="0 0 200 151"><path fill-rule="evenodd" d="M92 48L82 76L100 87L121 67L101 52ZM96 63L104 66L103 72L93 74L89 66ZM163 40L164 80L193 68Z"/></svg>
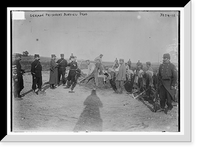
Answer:
<svg viewBox="0 0 200 151"><path fill-rule="evenodd" d="M31 74L36 77L42 76L42 65L39 60L35 60L31 63Z"/></svg>

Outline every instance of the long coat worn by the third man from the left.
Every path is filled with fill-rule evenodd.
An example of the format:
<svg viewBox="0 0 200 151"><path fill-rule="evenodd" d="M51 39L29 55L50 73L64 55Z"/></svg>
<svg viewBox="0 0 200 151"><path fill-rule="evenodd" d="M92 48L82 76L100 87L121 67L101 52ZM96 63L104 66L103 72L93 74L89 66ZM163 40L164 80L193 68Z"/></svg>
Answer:
<svg viewBox="0 0 200 151"><path fill-rule="evenodd" d="M51 59L49 84L57 84L57 83L58 83L58 68L55 60Z"/></svg>

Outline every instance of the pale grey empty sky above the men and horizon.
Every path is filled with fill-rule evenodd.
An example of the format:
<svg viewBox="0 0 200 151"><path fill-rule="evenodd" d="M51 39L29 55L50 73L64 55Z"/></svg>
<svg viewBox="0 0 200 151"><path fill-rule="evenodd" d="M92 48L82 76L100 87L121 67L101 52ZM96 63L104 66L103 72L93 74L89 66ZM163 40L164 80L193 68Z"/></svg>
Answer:
<svg viewBox="0 0 200 151"><path fill-rule="evenodd" d="M62 16L46 16L59 14ZM64 16L76 13L78 16ZM172 44L177 44L177 12L26 12L25 20L13 20L13 53L28 51L50 57L60 53L69 58L103 61L123 58L132 62L162 60ZM174 16L163 17L163 14ZM30 17L40 14L41 17ZM38 39L38 41L37 41Z"/></svg>

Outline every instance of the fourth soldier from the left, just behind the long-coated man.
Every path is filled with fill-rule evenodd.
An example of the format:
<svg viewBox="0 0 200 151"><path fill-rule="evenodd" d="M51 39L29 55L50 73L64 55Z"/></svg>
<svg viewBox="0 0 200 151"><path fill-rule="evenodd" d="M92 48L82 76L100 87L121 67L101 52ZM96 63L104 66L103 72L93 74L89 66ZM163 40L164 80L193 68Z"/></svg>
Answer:
<svg viewBox="0 0 200 151"><path fill-rule="evenodd" d="M60 54L60 59L56 62L58 63L58 84L60 84L60 78L62 76L62 84L66 84L65 71L67 67L67 60L64 59L64 54Z"/></svg>

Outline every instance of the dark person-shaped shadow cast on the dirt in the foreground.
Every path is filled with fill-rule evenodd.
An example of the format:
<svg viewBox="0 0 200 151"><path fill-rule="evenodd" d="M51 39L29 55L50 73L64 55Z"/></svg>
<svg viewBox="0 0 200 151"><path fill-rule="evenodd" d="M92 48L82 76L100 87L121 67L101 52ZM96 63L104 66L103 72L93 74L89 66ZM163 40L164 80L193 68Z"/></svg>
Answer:
<svg viewBox="0 0 200 151"><path fill-rule="evenodd" d="M103 121L99 108L103 107L103 104L95 90L92 90L91 95L86 98L84 105L85 108L74 127L74 131L102 131Z"/></svg>

